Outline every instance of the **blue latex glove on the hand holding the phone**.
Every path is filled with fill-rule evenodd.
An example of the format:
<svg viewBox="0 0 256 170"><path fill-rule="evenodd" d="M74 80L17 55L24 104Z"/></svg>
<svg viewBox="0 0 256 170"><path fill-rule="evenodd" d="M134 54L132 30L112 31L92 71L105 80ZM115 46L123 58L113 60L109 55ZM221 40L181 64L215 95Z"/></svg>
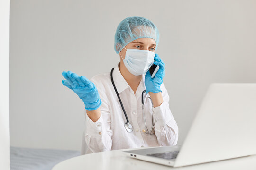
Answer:
<svg viewBox="0 0 256 170"><path fill-rule="evenodd" d="M162 92L162 90L160 89L160 86L163 83L163 78L165 76L165 63L160 59L158 54L155 54L154 59L155 59L154 64L158 65L160 68L156 72L154 78L151 78L151 74L149 70L146 72L146 75L145 75L146 93Z"/></svg>

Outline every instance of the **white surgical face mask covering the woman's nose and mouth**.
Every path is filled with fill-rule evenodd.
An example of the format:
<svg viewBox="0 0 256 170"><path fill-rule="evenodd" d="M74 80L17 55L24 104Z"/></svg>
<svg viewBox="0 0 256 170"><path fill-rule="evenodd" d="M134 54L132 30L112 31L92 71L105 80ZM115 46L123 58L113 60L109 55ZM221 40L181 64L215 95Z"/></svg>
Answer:
<svg viewBox="0 0 256 170"><path fill-rule="evenodd" d="M155 53L149 50L126 49L125 59L122 59L128 71L138 76L149 70L154 63L154 57Z"/></svg>

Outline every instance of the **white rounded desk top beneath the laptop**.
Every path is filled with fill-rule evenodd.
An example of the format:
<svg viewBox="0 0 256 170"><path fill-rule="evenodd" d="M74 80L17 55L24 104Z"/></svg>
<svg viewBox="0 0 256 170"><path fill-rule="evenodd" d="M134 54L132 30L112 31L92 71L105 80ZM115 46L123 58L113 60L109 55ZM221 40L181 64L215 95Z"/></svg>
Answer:
<svg viewBox="0 0 256 170"><path fill-rule="evenodd" d="M122 151L91 153L60 162L52 170L256 170L256 155L172 168L127 157Z"/></svg>

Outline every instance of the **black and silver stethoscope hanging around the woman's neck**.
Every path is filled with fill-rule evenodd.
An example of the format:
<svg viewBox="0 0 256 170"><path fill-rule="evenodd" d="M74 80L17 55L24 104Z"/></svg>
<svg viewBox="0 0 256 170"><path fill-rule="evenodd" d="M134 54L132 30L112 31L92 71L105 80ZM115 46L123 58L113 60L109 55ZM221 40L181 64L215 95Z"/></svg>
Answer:
<svg viewBox="0 0 256 170"><path fill-rule="evenodd" d="M114 80L113 80L113 70L114 70L114 68L112 68L111 73L110 73L111 82L112 82L112 84L113 84L113 86L114 86L115 92L116 92L116 94L117 94L117 96L118 96L118 100L119 100L119 102L120 102L120 104L121 104L122 110L123 110L124 115L125 115L125 118L126 118L126 122L125 122L125 124L124 124L124 127L125 127L126 131L132 132L132 131L133 131L132 124L129 122L129 119L128 119L128 117L127 117L127 114L126 114L126 111L125 111L125 109L124 109L123 103L122 103L122 101L121 101L121 98L120 98L120 96L119 96L119 93L118 93L118 91L117 91L117 88L116 88L115 83L114 83ZM145 124L145 127L146 127L146 131L145 131L145 132L146 132L146 134L153 135L153 134L155 134L155 132L152 133L153 127L155 127L153 117L152 117L152 125L151 125L150 132L149 132L147 126L146 126L146 118L145 118L145 114L144 114L144 102L145 102L145 101L144 101L144 93L145 93L145 92L146 92L146 90L144 90L144 91L142 92L142 94L141 94L142 112L143 112L144 124ZM149 97L148 97L148 98L149 98ZM151 100L151 98L150 98L150 100ZM151 100L151 103L152 103L152 100ZM152 106L153 106L153 103L152 103Z"/></svg>

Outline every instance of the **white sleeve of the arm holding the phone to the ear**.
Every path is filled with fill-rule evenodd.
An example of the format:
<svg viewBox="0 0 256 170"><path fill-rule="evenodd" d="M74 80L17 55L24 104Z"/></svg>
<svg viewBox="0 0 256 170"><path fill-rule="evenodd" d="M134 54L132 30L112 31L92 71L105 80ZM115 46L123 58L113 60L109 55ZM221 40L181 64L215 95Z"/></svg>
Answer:
<svg viewBox="0 0 256 170"><path fill-rule="evenodd" d="M169 95L163 83L161 90L164 102L160 106L152 108L155 135L161 146L176 145L178 126L169 108Z"/></svg>

